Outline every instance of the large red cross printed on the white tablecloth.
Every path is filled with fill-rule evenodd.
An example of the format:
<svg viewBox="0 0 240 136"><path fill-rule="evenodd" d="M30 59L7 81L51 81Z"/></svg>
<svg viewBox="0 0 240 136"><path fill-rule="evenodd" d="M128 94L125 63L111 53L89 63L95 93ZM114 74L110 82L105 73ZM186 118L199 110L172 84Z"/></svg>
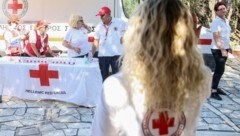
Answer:
<svg viewBox="0 0 240 136"><path fill-rule="evenodd" d="M58 79L58 71L48 70L48 64L39 64L39 70L30 70L31 78L40 78L41 86L50 86L49 78Z"/></svg>

